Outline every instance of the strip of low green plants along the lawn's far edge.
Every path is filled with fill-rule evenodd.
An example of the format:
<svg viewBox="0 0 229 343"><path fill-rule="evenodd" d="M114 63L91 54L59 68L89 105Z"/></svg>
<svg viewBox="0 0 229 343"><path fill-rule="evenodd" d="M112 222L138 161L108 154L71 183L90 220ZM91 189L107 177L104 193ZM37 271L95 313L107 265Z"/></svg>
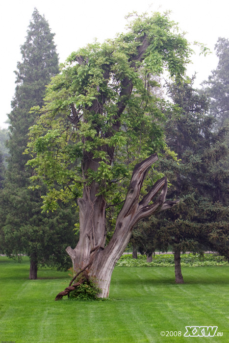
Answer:
<svg viewBox="0 0 229 343"><path fill-rule="evenodd" d="M223 256L216 254L181 254L181 267L204 267L204 266L229 266ZM137 259L132 255L122 255L116 266L119 267L172 267L174 266L173 254L155 254L153 262L146 262L146 256L138 255Z"/></svg>

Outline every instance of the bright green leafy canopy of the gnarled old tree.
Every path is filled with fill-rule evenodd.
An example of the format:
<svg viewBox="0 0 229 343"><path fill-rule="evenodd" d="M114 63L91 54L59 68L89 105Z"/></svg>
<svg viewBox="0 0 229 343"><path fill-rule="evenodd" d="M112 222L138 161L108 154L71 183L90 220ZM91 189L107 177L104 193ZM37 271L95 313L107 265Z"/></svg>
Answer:
<svg viewBox="0 0 229 343"><path fill-rule="evenodd" d="M191 52L168 15L155 13L68 57L47 88L45 105L33 108L40 118L30 128L28 164L35 168L34 187L40 178L48 185L44 209L79 197L92 180L117 202L119 181L129 180L137 162L154 152L171 154L163 133L164 109L171 105L153 94L159 85L152 76L180 78Z"/></svg>

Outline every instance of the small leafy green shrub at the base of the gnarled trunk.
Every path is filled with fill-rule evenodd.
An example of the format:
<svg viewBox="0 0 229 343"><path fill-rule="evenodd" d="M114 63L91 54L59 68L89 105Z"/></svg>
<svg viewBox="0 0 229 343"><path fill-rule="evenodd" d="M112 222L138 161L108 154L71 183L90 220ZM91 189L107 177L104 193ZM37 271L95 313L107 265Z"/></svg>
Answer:
<svg viewBox="0 0 229 343"><path fill-rule="evenodd" d="M97 296L100 292L96 279L85 279L75 291L70 292L69 297L75 300L101 300Z"/></svg>

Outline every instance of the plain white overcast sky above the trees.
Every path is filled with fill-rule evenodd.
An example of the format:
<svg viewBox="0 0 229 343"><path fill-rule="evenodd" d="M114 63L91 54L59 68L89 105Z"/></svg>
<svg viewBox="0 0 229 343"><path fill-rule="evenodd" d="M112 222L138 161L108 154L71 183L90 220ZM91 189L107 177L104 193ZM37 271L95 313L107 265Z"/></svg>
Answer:
<svg viewBox="0 0 229 343"><path fill-rule="evenodd" d="M151 3L151 1L153 1ZM204 43L213 52L210 56L193 56L188 69L197 72L197 86L217 66L214 46L218 37L229 38L229 2L227 0L6 0L0 4L0 127L6 127L6 114L11 111L15 90L17 61L21 60L20 45L24 44L27 26L34 7L48 20L57 45L60 62L72 51L91 43L95 37L102 42L125 29L125 15L171 10L170 18L187 32L190 42Z"/></svg>

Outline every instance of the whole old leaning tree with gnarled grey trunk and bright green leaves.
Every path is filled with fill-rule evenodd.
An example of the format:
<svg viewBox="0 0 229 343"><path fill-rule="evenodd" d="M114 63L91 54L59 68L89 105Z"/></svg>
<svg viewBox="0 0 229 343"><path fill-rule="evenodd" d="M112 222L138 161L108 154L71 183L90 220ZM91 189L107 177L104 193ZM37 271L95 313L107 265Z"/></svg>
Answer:
<svg viewBox="0 0 229 343"><path fill-rule="evenodd" d="M52 79L45 105L33 108L40 116L27 150L34 188L39 180L48 185L44 210L77 199L80 238L67 252L76 272L97 280L100 297L109 294L133 225L177 202L165 200L167 180L152 168L156 153L171 154L163 135L169 104L151 92L158 86L152 75L180 77L190 54L167 14L139 16L127 33L72 53ZM106 211L115 206L107 243Z"/></svg>

